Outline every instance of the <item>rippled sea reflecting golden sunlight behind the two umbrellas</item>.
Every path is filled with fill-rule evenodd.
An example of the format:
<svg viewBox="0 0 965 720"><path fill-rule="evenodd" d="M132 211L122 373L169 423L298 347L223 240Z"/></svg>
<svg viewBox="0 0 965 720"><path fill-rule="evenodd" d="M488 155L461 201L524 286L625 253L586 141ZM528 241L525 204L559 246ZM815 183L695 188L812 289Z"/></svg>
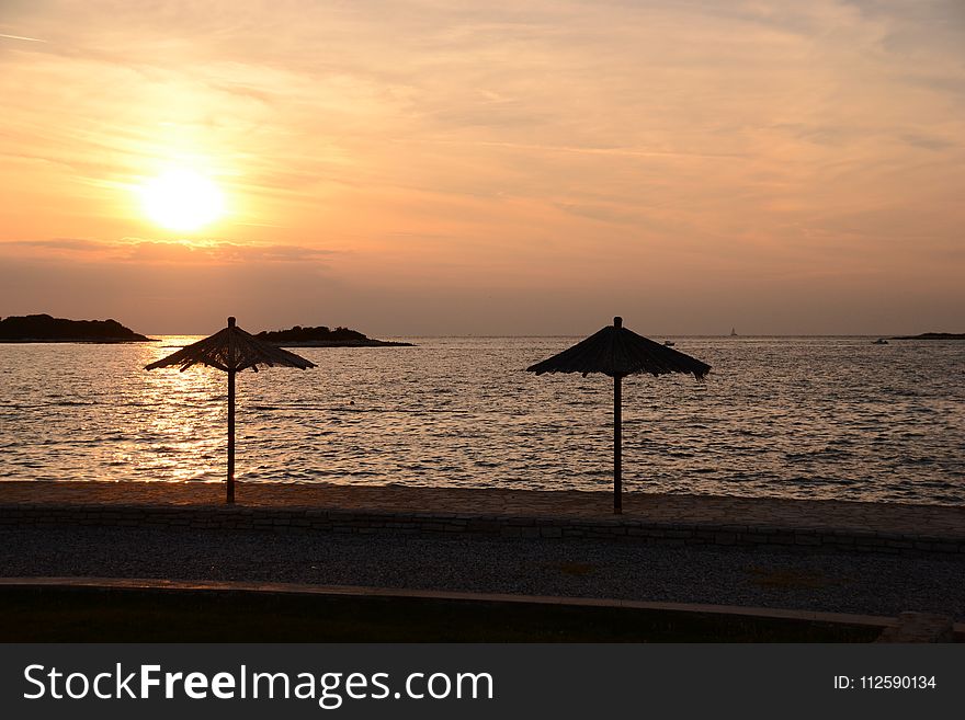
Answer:
<svg viewBox="0 0 965 720"><path fill-rule="evenodd" d="M141 370L195 339L0 345L0 479L220 481L226 376ZM299 350L239 376L238 477L609 489L612 381L523 372L576 340ZM714 370L624 381L628 490L965 504L965 342L676 340Z"/></svg>

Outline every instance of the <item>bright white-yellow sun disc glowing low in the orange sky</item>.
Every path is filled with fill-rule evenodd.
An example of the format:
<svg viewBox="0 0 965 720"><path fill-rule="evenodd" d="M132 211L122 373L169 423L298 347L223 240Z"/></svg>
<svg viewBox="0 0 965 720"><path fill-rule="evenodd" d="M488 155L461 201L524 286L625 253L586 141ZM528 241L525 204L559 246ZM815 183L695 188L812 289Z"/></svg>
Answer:
<svg viewBox="0 0 965 720"><path fill-rule="evenodd" d="M167 170L148 180L140 187L140 202L154 222L181 232L200 230L225 213L218 186L186 168Z"/></svg>

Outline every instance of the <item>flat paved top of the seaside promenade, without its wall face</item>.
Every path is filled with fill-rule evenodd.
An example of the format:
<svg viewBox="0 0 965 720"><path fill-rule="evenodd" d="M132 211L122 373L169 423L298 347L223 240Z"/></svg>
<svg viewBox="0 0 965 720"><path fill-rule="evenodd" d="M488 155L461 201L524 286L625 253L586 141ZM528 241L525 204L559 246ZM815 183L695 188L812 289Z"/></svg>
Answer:
<svg viewBox="0 0 965 720"><path fill-rule="evenodd" d="M211 506L224 485L163 482L0 482L0 505ZM243 484L239 507L612 519L608 492L361 485ZM626 494L622 519L965 537L965 507L828 500Z"/></svg>

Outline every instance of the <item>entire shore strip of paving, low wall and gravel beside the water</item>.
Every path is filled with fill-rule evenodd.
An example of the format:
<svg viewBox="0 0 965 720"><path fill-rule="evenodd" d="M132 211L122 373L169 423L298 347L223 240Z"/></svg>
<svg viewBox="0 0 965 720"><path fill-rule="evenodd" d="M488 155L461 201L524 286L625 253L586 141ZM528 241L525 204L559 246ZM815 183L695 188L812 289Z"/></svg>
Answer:
<svg viewBox="0 0 965 720"><path fill-rule="evenodd" d="M231 507L215 483L8 482L0 491L8 578L307 583L965 620L961 507L627 494L615 517L608 493L239 484Z"/></svg>

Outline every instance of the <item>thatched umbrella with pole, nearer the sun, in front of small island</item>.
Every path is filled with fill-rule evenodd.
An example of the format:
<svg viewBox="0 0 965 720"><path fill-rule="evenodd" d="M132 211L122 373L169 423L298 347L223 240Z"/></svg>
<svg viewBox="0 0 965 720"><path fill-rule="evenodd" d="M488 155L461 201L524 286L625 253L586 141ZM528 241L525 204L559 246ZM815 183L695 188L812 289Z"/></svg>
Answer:
<svg viewBox="0 0 965 720"><path fill-rule="evenodd" d="M192 345L182 347L177 353L146 365L144 369L180 365L183 373L192 365L209 365L228 374L228 498L235 502L235 374L250 367L258 373L259 365L268 367L297 367L305 369L315 367L304 357L276 347L250 335L235 324L235 318L228 318L228 327L219 330L211 338L198 340Z"/></svg>

